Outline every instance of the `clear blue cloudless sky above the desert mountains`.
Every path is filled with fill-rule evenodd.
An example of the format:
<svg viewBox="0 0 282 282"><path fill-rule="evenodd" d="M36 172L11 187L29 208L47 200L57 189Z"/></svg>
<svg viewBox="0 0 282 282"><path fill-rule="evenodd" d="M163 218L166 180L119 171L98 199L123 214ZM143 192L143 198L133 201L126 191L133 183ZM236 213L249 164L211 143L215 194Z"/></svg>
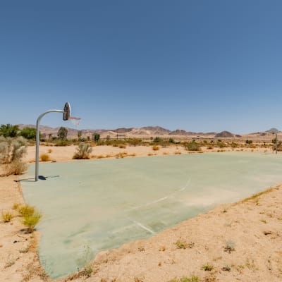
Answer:
<svg viewBox="0 0 282 282"><path fill-rule="evenodd" d="M0 124L282 129L282 1L1 1ZM70 126L61 114L42 125Z"/></svg>

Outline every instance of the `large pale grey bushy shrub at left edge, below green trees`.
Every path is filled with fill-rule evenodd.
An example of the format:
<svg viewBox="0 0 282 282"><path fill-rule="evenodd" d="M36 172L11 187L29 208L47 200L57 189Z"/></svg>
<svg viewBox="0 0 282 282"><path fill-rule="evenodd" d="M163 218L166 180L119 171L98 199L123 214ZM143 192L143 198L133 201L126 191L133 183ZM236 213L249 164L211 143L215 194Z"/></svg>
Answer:
<svg viewBox="0 0 282 282"><path fill-rule="evenodd" d="M20 160L26 153L27 141L23 137L0 136L0 163L10 164Z"/></svg>

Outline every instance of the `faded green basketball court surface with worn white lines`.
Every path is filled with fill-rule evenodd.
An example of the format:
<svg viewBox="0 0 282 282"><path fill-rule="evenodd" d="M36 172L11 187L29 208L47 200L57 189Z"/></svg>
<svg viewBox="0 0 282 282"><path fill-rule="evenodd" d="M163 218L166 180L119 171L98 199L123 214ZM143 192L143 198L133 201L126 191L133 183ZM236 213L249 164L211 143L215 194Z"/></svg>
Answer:
<svg viewBox="0 0 282 282"><path fill-rule="evenodd" d="M34 177L34 166L23 178ZM39 257L52 278L101 250L148 238L215 204L235 202L282 180L282 155L185 154L40 164L47 180L23 180L43 213Z"/></svg>

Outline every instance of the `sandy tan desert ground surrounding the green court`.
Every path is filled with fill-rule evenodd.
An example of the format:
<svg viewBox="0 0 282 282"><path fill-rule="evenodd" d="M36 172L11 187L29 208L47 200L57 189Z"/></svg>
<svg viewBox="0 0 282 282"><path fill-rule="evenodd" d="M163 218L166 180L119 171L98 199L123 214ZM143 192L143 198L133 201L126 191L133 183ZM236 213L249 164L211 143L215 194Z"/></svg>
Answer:
<svg viewBox="0 0 282 282"><path fill-rule="evenodd" d="M50 161L71 161L75 149L40 146L40 154L49 154ZM217 150L202 148L202 152L215 154ZM271 148L234 150L272 153ZM150 146L97 146L91 158L99 161L102 157L164 154L188 152L180 146L158 150ZM28 147L25 161L34 159L35 147ZM17 176L0 177L0 211L14 215L11 222L0 220L0 281L51 281L37 255L39 231L26 234L13 210L13 204L24 202L17 180ZM281 207L282 184L277 183L258 195L219 205L147 240L100 252L85 270L56 281L282 281Z"/></svg>

